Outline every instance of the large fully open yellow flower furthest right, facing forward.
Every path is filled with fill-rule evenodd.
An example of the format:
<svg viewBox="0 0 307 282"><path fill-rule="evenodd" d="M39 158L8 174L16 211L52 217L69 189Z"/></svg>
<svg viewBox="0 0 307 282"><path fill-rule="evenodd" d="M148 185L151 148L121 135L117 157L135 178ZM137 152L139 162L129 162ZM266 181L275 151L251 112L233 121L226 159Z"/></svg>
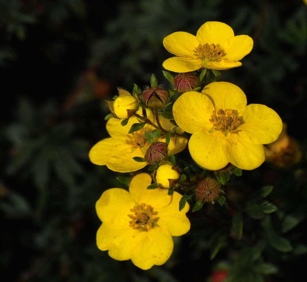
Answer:
<svg viewBox="0 0 307 282"><path fill-rule="evenodd" d="M173 105L176 123L192 133L188 149L205 169L219 170L228 163L251 170L265 161L263 144L275 141L282 120L265 105L247 105L246 96L229 82L212 82L202 93L183 93Z"/></svg>

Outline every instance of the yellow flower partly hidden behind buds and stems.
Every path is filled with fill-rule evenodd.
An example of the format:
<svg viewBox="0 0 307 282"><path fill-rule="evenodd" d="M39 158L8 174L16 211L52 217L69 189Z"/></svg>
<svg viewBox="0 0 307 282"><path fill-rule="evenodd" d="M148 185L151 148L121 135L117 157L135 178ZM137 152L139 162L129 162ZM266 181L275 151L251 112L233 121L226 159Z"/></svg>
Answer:
<svg viewBox="0 0 307 282"><path fill-rule="evenodd" d="M152 116L152 114L151 114ZM150 117L150 112L147 113ZM160 117L160 122L164 129L169 130L174 127L169 120ZM128 133L131 125L140 123L136 117L130 117L128 123L122 126L120 121L109 119L106 124L107 132L111 137L105 138L96 143L89 152L89 158L95 165L106 165L109 169L117 172L132 172L142 169L147 162L134 161L133 157L144 158L146 150L150 146L145 139L145 131L152 132L155 128L146 124L142 129L133 133ZM165 138L156 141L165 142ZM177 154L185 149L188 141L183 137L171 137L168 147L168 155Z"/></svg>

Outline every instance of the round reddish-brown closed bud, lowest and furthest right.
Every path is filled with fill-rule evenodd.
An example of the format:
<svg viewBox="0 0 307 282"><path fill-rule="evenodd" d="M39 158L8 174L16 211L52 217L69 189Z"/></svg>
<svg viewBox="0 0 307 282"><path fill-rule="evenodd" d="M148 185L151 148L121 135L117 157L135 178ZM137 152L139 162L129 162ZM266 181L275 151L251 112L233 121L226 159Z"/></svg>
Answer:
<svg viewBox="0 0 307 282"><path fill-rule="evenodd" d="M212 202L220 198L220 182L206 177L197 185L195 194L202 202Z"/></svg>

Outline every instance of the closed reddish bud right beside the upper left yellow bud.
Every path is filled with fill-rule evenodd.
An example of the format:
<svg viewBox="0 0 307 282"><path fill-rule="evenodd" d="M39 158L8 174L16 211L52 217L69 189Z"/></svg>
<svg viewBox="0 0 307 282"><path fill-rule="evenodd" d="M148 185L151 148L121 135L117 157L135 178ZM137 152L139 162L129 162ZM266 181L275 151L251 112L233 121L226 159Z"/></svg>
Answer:
<svg viewBox="0 0 307 282"><path fill-rule="evenodd" d="M146 89L143 92L143 101L151 108L163 107L169 98L169 93L159 86Z"/></svg>

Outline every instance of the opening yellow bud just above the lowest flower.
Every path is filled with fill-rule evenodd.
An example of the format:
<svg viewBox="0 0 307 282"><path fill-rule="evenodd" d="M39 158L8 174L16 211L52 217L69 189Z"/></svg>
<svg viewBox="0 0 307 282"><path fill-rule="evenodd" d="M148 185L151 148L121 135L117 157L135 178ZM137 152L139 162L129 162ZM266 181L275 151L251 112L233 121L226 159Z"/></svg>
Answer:
<svg viewBox="0 0 307 282"><path fill-rule="evenodd" d="M157 169L155 180L163 188L172 188L180 178L180 173L175 165L165 162Z"/></svg>

